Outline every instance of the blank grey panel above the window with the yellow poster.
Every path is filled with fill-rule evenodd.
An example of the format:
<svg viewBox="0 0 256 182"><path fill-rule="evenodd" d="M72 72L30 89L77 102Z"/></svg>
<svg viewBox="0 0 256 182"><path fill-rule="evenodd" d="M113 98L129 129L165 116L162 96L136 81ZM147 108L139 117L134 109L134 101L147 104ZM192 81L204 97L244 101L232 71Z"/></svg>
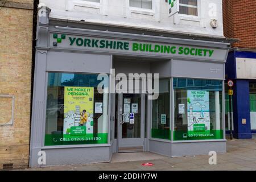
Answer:
<svg viewBox="0 0 256 182"><path fill-rule="evenodd" d="M110 73L111 66L110 55L49 51L46 70L56 72Z"/></svg>

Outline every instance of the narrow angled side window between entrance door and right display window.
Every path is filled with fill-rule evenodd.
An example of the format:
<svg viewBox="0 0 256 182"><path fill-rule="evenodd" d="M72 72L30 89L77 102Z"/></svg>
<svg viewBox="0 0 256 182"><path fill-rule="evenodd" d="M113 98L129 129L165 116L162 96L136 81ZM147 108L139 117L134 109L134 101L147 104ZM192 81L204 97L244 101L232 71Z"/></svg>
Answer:
<svg viewBox="0 0 256 182"><path fill-rule="evenodd" d="M159 97L152 100L152 138L171 139L170 79L159 80Z"/></svg>

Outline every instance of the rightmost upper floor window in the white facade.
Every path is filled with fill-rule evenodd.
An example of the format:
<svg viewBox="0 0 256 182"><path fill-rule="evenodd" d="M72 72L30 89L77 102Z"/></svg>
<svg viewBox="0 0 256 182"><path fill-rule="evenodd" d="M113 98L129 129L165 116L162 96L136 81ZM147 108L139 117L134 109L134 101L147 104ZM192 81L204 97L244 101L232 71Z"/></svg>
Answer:
<svg viewBox="0 0 256 182"><path fill-rule="evenodd" d="M180 0L180 13L197 16L197 0Z"/></svg>

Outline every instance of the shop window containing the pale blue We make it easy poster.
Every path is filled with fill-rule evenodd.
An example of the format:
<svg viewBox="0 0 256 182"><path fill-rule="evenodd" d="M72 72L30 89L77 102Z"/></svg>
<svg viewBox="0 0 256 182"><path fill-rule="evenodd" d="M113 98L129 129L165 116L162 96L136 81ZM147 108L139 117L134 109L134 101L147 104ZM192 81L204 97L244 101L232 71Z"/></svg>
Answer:
<svg viewBox="0 0 256 182"><path fill-rule="evenodd" d="M223 139L222 81L192 80L174 78L174 140Z"/></svg>

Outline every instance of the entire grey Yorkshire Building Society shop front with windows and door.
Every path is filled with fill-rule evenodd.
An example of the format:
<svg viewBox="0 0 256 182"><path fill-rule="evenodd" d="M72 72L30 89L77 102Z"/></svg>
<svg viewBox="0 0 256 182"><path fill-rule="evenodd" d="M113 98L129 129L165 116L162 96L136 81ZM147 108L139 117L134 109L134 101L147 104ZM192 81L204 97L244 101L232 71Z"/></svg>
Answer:
<svg viewBox="0 0 256 182"><path fill-rule="evenodd" d="M110 162L116 152L225 152L228 49L39 18L30 167Z"/></svg>

